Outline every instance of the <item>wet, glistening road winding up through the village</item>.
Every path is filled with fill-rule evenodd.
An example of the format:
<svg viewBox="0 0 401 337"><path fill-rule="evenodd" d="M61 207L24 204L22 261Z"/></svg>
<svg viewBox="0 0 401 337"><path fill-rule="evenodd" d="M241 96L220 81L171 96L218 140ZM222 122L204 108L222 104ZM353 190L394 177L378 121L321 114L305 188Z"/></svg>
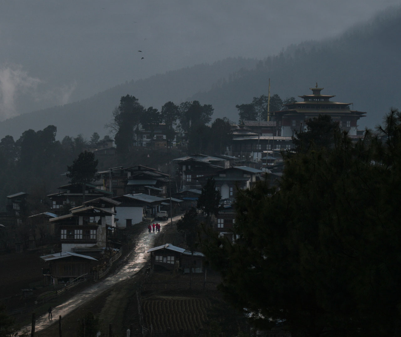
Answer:
<svg viewBox="0 0 401 337"><path fill-rule="evenodd" d="M174 217L173 222L180 218L181 215ZM162 233L164 226L169 226L171 224L170 219L166 221L158 221L158 223L161 225L160 233ZM128 279L138 273L138 271L140 271L150 260L150 253L146 253L146 251L153 247L156 235L158 235L157 232L148 233L148 228L145 227L144 231L138 236L134 249L125 257L123 261L124 265L118 271L107 276L96 284L87 287L80 293L71 297L68 301L53 308L53 320L48 318L48 313L37 317L35 331L45 329L49 325L58 321L60 315L65 317L67 314L71 313L71 311L103 293L103 291L107 290L109 287L114 286L118 282ZM20 333L30 330L31 325L28 325L21 329Z"/></svg>

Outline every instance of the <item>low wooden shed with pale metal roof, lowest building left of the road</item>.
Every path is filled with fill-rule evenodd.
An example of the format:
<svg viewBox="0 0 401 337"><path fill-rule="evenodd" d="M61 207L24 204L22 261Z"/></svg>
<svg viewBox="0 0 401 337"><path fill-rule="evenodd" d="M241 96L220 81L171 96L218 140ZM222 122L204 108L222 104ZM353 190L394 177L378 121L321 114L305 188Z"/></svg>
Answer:
<svg viewBox="0 0 401 337"><path fill-rule="evenodd" d="M94 257L66 251L41 256L41 259L47 263L47 268L43 269L45 284L51 284L52 279L59 284L83 277L98 264Z"/></svg>

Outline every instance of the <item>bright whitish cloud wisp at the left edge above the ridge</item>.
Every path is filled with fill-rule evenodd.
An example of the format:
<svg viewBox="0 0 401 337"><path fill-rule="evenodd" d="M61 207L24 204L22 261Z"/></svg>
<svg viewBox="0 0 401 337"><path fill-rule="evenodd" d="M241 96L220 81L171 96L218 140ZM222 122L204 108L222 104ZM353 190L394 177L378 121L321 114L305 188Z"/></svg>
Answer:
<svg viewBox="0 0 401 337"><path fill-rule="evenodd" d="M20 65L0 66L0 119L16 116L18 96L36 90L40 83L40 79L28 76Z"/></svg>

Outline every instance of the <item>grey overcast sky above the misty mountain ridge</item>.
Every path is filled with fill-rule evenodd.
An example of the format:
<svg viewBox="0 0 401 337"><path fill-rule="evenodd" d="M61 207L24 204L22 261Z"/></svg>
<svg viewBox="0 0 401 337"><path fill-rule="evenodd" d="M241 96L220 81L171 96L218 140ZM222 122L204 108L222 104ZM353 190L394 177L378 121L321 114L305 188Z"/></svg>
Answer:
<svg viewBox="0 0 401 337"><path fill-rule="evenodd" d="M0 120L132 79L336 36L401 0L2 0ZM142 52L138 52L142 50ZM143 59L142 59L143 57ZM19 110L18 110L19 109Z"/></svg>

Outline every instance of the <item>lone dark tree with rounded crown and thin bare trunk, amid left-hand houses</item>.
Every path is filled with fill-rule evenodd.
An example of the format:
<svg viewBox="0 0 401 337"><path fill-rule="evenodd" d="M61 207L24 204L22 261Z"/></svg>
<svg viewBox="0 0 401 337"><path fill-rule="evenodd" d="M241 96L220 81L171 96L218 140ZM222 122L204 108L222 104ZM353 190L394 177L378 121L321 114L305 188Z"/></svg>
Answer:
<svg viewBox="0 0 401 337"><path fill-rule="evenodd" d="M82 185L82 202L85 202L85 186L97 179L97 163L93 152L81 152L71 166L67 166L67 177L72 184Z"/></svg>

